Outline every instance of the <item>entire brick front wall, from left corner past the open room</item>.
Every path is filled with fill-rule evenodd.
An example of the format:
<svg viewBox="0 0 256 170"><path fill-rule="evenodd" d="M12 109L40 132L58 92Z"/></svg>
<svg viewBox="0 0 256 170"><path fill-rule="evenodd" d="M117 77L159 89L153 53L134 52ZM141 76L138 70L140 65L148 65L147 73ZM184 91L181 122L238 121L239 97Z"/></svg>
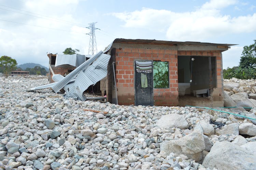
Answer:
<svg viewBox="0 0 256 170"><path fill-rule="evenodd" d="M222 51L221 50L178 50L174 45L154 45L139 43L116 43L115 50L115 76L117 86L117 98L119 105L134 105L134 61L153 60L169 62L169 88L153 89L154 105L156 106L177 106L179 105L178 92L178 65L177 56L200 56L216 57L216 88L212 91L213 107L223 106L223 72L222 72ZM112 66L111 66L111 69ZM108 75L109 76L109 75ZM110 79L110 77L108 77ZM111 76L111 79L112 76ZM110 81L108 81L110 82ZM111 90L111 84L107 89ZM107 90L108 91L108 90ZM108 97L108 92L107 92ZM112 97L110 97L112 98Z"/></svg>

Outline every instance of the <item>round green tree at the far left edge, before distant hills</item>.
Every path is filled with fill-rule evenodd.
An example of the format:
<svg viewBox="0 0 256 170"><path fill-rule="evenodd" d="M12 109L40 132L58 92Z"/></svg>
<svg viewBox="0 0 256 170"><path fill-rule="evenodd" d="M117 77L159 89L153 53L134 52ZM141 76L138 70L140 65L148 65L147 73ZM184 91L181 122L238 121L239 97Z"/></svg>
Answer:
<svg viewBox="0 0 256 170"><path fill-rule="evenodd" d="M8 56L2 56L0 58L0 67L3 68L5 76L11 72L12 69L15 69L17 66L17 61Z"/></svg>

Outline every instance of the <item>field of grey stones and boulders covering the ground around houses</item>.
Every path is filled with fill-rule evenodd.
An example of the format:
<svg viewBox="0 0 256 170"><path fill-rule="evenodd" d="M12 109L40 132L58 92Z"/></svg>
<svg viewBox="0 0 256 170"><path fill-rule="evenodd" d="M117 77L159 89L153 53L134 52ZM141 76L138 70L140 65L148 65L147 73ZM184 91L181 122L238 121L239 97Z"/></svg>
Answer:
<svg viewBox="0 0 256 170"><path fill-rule="evenodd" d="M225 97L240 106L256 96L255 82L225 80ZM195 107L74 101L51 89L26 92L47 83L45 76L0 77L0 170L256 169L254 120ZM256 108L218 109L256 118Z"/></svg>

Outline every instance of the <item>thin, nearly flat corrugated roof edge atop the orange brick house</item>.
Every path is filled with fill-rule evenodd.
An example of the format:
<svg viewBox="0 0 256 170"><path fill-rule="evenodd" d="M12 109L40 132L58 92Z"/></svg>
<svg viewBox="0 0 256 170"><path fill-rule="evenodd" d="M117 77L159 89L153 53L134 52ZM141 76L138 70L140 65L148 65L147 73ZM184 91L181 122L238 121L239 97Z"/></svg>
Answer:
<svg viewBox="0 0 256 170"><path fill-rule="evenodd" d="M192 42L192 41L161 41L161 40L143 40L143 39L125 39L125 38L116 38L113 43L149 43L149 44L172 44L172 45L206 45L206 46L232 46L238 44L216 44L216 43L201 43L201 42Z"/></svg>

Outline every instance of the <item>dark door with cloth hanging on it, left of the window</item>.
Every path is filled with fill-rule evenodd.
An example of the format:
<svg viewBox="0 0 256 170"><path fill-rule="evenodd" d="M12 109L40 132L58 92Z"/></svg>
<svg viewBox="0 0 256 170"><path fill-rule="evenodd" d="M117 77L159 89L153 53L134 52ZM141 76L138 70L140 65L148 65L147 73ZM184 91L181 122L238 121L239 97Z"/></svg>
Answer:
<svg viewBox="0 0 256 170"><path fill-rule="evenodd" d="M143 61L139 61L143 63ZM135 82L135 105L154 105L154 98L153 98L153 63L152 61L145 61L147 64L151 63L151 71L140 72L136 68L138 64L135 61L135 75L134 75L134 82ZM145 82L146 81L146 82Z"/></svg>

